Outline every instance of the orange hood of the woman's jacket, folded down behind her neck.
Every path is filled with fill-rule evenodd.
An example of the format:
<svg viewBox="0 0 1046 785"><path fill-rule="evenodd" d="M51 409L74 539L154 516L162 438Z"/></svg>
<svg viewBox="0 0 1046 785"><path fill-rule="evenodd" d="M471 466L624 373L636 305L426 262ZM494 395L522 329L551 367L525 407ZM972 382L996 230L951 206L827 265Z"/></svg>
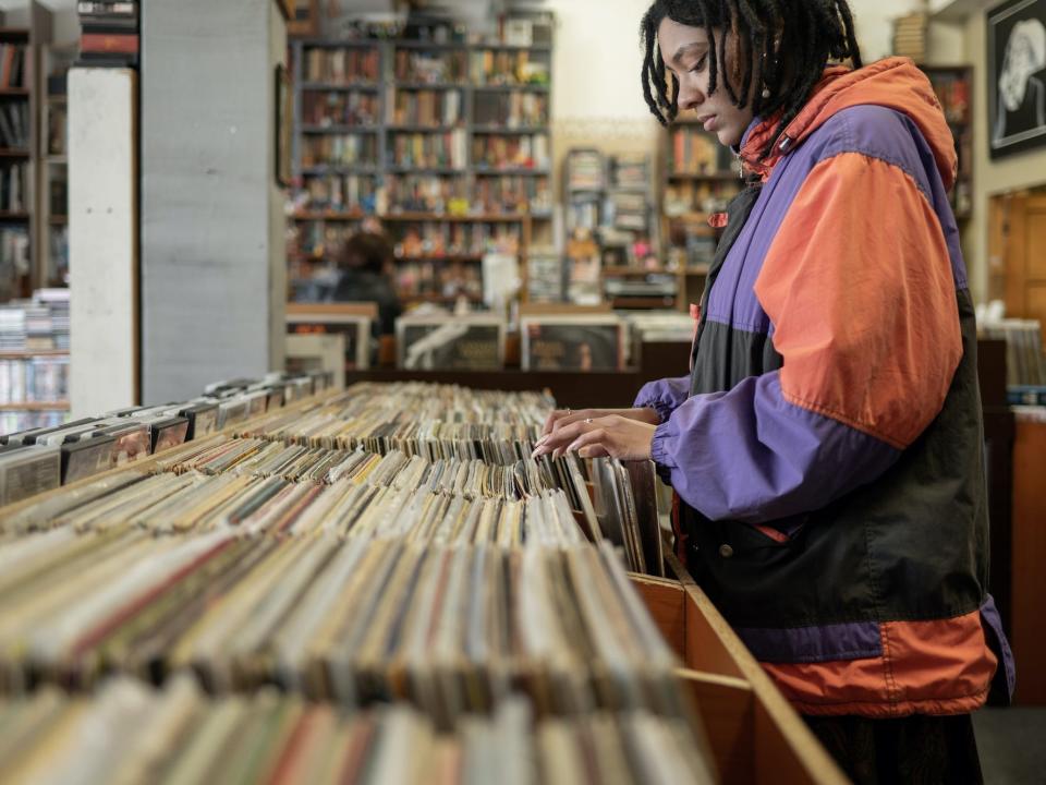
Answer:
<svg viewBox="0 0 1046 785"><path fill-rule="evenodd" d="M788 124L777 148L765 160L758 160L780 114L753 123L742 142L741 158L749 170L766 179L781 157L829 118L861 105L884 106L911 118L934 152L945 189L951 189L958 165L956 142L929 80L908 58L887 58L856 71L843 65L826 69L806 106Z"/></svg>

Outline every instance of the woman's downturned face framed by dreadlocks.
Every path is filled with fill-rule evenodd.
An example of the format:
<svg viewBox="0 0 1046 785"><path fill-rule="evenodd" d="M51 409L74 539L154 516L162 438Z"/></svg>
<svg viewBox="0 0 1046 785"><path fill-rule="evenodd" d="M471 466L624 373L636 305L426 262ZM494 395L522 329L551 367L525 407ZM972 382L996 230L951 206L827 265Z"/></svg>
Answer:
<svg viewBox="0 0 1046 785"><path fill-rule="evenodd" d="M716 29L715 35L722 35ZM737 41L733 34L727 36L727 61L719 63L716 78L716 92L708 95L708 59L714 57L708 45L708 36L701 27L689 27L665 17L657 31L657 41L661 49L665 68L679 80L679 111L693 110L698 122L719 137L725 145L738 145L752 122L752 101L739 109L730 100L722 86L728 74L740 71L734 62ZM737 77L730 82L737 88ZM753 83L752 89L755 89Z"/></svg>

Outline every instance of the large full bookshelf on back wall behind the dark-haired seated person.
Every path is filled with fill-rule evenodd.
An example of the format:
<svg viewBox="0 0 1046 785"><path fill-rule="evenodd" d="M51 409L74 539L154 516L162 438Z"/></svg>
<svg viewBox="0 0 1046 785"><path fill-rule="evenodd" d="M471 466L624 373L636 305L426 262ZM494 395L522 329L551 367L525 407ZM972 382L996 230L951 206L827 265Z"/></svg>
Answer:
<svg viewBox="0 0 1046 785"><path fill-rule="evenodd" d="M374 217L393 241L405 302L478 302L486 252L519 257L525 299L533 235L551 234L551 44L291 48L289 280L331 275L341 242Z"/></svg>

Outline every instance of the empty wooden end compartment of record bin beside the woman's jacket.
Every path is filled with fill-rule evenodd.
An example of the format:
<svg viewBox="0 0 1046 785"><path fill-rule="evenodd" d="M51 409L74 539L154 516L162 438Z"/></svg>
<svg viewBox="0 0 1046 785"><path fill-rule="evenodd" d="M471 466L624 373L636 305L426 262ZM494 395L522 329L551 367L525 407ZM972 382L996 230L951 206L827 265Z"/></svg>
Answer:
<svg viewBox="0 0 1046 785"><path fill-rule="evenodd" d="M674 579L631 573L658 629L683 662L719 776L726 785L849 782L671 553Z"/></svg>

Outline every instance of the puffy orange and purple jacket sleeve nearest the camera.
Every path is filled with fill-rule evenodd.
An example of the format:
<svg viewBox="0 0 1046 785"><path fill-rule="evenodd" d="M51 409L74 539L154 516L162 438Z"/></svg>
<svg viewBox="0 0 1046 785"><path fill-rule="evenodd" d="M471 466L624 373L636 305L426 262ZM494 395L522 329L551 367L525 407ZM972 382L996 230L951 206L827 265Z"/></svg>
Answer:
<svg viewBox="0 0 1046 785"><path fill-rule="evenodd" d="M773 521L872 482L937 416L962 355L938 218L878 158L813 168L755 293L782 367L690 398L654 436L672 486L714 520Z"/></svg>

